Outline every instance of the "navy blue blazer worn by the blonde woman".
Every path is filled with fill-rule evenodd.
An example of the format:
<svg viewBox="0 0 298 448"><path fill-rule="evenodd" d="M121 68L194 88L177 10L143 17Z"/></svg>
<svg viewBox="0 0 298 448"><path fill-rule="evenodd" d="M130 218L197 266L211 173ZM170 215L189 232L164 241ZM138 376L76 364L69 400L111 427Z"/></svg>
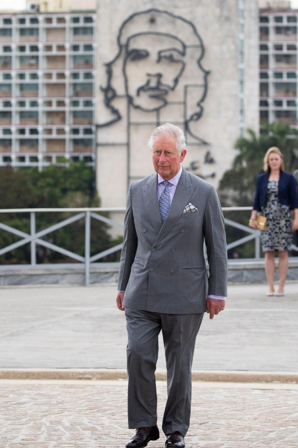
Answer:
<svg viewBox="0 0 298 448"><path fill-rule="evenodd" d="M269 172L263 172L256 178L256 193L253 201L253 210L260 211L261 207L264 207L265 205L269 175ZM280 172L278 182L278 200L283 205L289 205L292 210L294 208L298 208L296 182L294 176L288 172Z"/></svg>

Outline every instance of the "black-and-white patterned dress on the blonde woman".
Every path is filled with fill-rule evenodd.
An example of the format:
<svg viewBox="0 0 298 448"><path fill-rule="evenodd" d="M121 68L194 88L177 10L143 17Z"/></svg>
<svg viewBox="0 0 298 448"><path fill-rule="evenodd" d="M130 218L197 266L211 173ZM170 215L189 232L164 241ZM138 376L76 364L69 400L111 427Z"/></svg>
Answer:
<svg viewBox="0 0 298 448"><path fill-rule="evenodd" d="M261 232L263 252L268 250L290 250L293 239L292 215L288 205L278 200L278 181L269 181L267 198L261 214L267 217L267 226Z"/></svg>

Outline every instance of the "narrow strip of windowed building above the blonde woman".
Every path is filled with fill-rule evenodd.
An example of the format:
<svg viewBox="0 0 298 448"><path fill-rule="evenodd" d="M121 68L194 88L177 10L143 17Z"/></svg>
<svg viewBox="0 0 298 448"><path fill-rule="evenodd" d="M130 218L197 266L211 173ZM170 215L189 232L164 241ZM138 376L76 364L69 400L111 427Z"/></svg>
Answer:
<svg viewBox="0 0 298 448"><path fill-rule="evenodd" d="M260 10L260 124L297 124L298 10Z"/></svg>

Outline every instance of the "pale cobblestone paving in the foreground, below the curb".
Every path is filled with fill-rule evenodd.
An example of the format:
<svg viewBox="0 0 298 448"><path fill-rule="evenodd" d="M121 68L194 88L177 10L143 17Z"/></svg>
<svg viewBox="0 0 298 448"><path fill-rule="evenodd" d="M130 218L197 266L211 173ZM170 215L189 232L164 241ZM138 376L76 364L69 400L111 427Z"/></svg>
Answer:
<svg viewBox="0 0 298 448"><path fill-rule="evenodd" d="M1 448L120 448L127 381L0 382ZM159 425L166 383L158 382ZM193 383L186 448L297 448L298 385ZM148 447L164 447L165 437Z"/></svg>

